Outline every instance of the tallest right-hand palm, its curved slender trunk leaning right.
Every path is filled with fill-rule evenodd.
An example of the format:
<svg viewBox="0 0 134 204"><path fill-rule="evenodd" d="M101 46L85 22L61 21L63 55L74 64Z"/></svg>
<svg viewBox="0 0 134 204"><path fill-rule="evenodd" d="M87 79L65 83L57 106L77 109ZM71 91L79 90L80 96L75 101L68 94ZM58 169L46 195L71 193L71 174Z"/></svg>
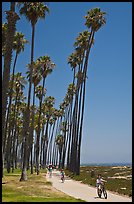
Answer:
<svg viewBox="0 0 134 204"><path fill-rule="evenodd" d="M76 162L76 174L80 173L80 148L81 148L81 139L82 139L82 127L83 127L83 117L84 117L84 105L85 105L85 91L86 91L86 73L87 73L87 68L88 68L88 58L89 58L89 53L92 44L94 43L94 34L97 32L102 25L106 23L105 20L105 12L101 12L100 8L95 8L91 9L88 11L86 18L86 23L87 27L91 29L90 36L89 36L89 43L86 49L86 56L85 56L85 63L83 66L83 90L82 90L82 97L80 100L82 100L81 103L81 118L80 118L80 128L78 130L78 150L77 150L77 162Z"/></svg>

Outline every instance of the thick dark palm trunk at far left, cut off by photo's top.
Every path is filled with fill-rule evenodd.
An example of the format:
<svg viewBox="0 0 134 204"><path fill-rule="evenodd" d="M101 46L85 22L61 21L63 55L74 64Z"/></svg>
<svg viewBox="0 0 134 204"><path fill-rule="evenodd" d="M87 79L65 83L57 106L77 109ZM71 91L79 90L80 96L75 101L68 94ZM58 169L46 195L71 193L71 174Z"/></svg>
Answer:
<svg viewBox="0 0 134 204"><path fill-rule="evenodd" d="M5 53L4 53L4 69L3 69L3 80L2 80L2 148L4 141L4 128L5 128L5 116L7 106L7 91L9 86L10 78L10 66L12 60L12 49L13 40L16 30L16 22L19 20L19 16L15 13L15 2L11 2L10 11L6 11L7 14L7 33L5 41ZM4 152L2 150L3 164L4 165ZM2 174L3 175L3 174Z"/></svg>

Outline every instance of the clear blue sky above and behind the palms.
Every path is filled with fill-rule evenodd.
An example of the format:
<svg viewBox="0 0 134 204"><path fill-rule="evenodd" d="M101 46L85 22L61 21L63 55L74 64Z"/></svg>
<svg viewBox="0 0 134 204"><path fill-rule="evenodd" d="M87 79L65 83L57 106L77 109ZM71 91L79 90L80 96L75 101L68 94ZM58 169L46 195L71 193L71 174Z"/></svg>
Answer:
<svg viewBox="0 0 134 204"><path fill-rule="evenodd" d="M50 14L35 31L34 59L49 55L56 64L47 78L47 95L62 102L73 73L67 64L73 43L84 25L89 9L107 12L106 25L95 35L92 47L82 138L81 163L131 162L132 159L132 3L130 2L49 2ZM9 3L2 4L2 19ZM17 9L18 12L18 9ZM25 19L17 30L31 42L31 26ZM19 56L16 71L25 75L30 62L30 45Z"/></svg>

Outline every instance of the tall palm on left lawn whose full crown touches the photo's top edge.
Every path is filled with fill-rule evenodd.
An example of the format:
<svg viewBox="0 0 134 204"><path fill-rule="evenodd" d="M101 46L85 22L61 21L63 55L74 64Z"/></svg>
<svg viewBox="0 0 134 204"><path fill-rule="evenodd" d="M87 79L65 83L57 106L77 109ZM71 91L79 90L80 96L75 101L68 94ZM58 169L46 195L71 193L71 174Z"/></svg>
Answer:
<svg viewBox="0 0 134 204"><path fill-rule="evenodd" d="M25 120L27 123L24 123L23 135L25 137L25 150L24 150L24 159L23 159L23 169L20 181L27 180L26 169L27 169L27 135L30 122L30 99L31 99L31 88L32 88L32 72L33 72L33 58L34 58L34 36L35 36L35 25L40 18L45 18L46 12L49 12L49 9L42 2L19 2L20 14L26 16L28 21L32 26L32 44L31 44L31 67L30 67L30 81L29 81L29 91L28 91L28 104L27 110L25 113Z"/></svg>

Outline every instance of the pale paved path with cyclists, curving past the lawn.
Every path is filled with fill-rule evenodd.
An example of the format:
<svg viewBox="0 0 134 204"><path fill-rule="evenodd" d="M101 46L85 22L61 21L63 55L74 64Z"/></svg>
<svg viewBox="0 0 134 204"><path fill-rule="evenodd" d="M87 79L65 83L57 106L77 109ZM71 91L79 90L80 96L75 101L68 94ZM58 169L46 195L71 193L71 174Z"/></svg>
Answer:
<svg viewBox="0 0 134 204"><path fill-rule="evenodd" d="M49 178L49 174L46 175L48 181L51 181L53 187L56 189L74 197L80 198L87 202L132 202L132 199L125 196L119 196L107 191L108 198L99 198L96 194L96 188L89 185L82 184L79 181L74 181L68 177L65 177L65 182L60 180L60 172L54 170L52 178Z"/></svg>

